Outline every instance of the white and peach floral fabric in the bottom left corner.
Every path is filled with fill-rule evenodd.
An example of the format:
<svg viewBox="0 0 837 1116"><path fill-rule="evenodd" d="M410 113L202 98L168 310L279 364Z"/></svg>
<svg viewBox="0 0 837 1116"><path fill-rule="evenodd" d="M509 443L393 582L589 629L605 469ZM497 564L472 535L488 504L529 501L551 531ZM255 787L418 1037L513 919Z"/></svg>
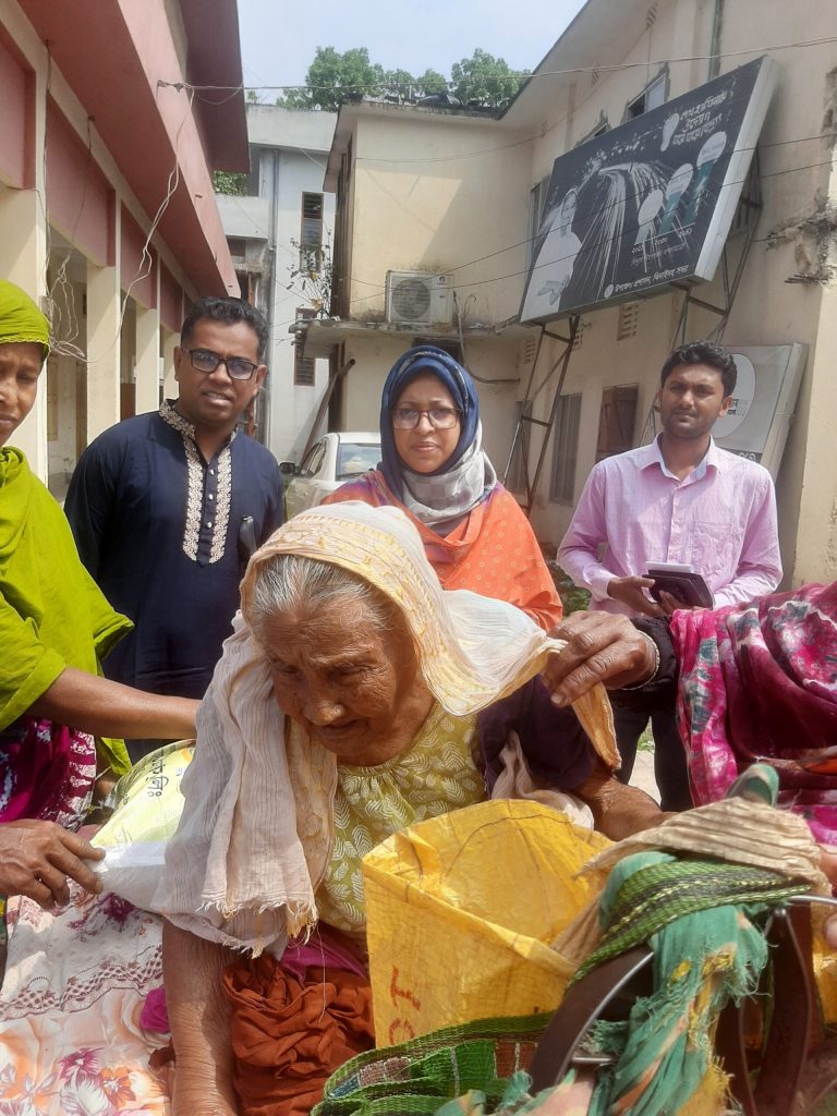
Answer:
<svg viewBox="0 0 837 1116"><path fill-rule="evenodd" d="M166 1116L169 1083L148 1061L167 1040L141 1023L161 984L156 915L80 889L55 915L10 901L0 1116Z"/></svg>

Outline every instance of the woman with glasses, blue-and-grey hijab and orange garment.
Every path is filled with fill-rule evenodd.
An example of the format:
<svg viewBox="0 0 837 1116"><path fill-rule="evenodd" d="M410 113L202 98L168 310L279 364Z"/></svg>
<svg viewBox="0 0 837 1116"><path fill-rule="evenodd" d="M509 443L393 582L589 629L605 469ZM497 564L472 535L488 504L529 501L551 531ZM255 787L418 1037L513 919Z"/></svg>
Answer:
<svg viewBox="0 0 837 1116"><path fill-rule="evenodd" d="M517 605L549 629L561 602L537 539L482 450L480 404L459 362L433 345L393 365L381 400L377 469L325 502L401 508L445 589Z"/></svg>

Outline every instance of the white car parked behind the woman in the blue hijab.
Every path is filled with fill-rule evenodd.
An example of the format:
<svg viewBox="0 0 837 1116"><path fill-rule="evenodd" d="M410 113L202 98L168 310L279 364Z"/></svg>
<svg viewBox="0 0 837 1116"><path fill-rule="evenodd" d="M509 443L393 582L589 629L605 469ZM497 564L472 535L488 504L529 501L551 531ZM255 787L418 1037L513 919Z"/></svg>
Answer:
<svg viewBox="0 0 837 1116"><path fill-rule="evenodd" d="M282 461L279 468L286 474L288 519L306 508L316 508L340 484L374 469L378 461L381 435L357 432L326 434L311 446L298 468Z"/></svg>

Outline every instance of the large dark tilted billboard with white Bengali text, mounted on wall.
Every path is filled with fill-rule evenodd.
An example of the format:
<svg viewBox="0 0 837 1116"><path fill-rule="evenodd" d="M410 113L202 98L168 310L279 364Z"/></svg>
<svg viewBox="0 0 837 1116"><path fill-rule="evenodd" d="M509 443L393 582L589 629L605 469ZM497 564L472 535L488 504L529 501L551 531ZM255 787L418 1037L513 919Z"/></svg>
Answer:
<svg viewBox="0 0 837 1116"><path fill-rule="evenodd" d="M711 279L777 69L757 58L560 155L521 321Z"/></svg>

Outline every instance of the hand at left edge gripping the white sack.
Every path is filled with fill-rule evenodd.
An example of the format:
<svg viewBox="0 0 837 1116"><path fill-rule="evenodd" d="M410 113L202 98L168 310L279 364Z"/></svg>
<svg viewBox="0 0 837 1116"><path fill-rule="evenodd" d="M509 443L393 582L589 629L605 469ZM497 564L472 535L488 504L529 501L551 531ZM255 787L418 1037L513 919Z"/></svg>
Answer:
<svg viewBox="0 0 837 1116"><path fill-rule="evenodd" d="M104 855L54 821L7 821L0 825L0 893L26 895L45 911L69 903L68 879L98 895L102 882L84 860Z"/></svg>

